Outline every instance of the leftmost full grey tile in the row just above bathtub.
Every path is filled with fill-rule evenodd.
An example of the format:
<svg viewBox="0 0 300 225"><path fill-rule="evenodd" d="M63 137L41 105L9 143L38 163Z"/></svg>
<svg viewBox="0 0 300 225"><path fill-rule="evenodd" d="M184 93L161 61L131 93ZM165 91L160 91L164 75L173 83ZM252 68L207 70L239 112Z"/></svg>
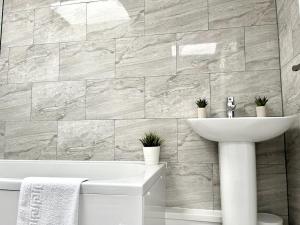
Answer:
<svg viewBox="0 0 300 225"><path fill-rule="evenodd" d="M56 159L57 122L7 122L5 159Z"/></svg>

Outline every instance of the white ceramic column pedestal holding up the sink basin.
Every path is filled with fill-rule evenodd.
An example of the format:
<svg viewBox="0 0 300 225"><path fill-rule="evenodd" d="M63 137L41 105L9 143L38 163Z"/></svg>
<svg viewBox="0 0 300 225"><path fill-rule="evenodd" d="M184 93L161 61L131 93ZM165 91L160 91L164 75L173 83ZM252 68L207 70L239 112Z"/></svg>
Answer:
<svg viewBox="0 0 300 225"><path fill-rule="evenodd" d="M255 143L219 142L223 225L256 225Z"/></svg>

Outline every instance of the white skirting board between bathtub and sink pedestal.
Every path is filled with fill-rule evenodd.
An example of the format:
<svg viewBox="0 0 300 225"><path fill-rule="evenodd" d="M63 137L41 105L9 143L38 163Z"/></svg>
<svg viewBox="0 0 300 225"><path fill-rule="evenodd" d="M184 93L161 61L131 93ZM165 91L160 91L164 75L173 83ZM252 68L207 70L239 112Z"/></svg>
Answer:
<svg viewBox="0 0 300 225"><path fill-rule="evenodd" d="M166 225L221 225L220 210L167 208Z"/></svg>

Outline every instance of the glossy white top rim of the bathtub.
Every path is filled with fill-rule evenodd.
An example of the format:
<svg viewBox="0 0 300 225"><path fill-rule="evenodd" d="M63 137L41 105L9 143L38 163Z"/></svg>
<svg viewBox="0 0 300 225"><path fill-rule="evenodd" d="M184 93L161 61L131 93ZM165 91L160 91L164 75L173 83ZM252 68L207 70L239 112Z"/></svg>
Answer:
<svg viewBox="0 0 300 225"><path fill-rule="evenodd" d="M135 164L145 166L147 175L143 178L136 177L126 182L125 179L116 180L89 180L81 185L81 194L104 194L104 195L133 195L143 196L151 186L164 176L166 163L155 166L146 166L143 161L72 161L72 160L0 160L0 163L49 163L49 164ZM22 178L1 178L0 191L19 191Z"/></svg>

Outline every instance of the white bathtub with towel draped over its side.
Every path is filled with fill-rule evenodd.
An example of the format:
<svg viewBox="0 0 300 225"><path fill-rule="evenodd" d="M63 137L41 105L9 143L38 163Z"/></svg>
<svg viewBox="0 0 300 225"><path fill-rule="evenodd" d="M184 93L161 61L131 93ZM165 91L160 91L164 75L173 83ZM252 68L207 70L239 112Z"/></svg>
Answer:
<svg viewBox="0 0 300 225"><path fill-rule="evenodd" d="M80 225L164 225L164 165L0 160L0 225L15 225L22 178L83 177Z"/></svg>

